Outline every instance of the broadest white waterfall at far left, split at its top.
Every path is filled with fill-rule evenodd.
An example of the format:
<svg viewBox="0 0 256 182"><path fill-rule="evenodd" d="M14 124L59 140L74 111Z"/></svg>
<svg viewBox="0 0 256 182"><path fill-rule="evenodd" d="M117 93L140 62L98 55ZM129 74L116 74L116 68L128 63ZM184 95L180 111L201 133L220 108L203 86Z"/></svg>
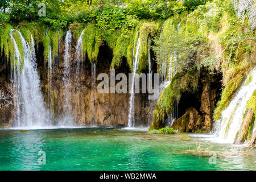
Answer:
<svg viewBox="0 0 256 182"><path fill-rule="evenodd" d="M13 33L18 32L23 49L22 56L14 39ZM31 47L17 30L11 30L14 43L14 103L16 107L15 127L36 128L49 126L48 111L45 107L40 90L40 80L36 70L34 39ZM32 36L32 35L31 35Z"/></svg>

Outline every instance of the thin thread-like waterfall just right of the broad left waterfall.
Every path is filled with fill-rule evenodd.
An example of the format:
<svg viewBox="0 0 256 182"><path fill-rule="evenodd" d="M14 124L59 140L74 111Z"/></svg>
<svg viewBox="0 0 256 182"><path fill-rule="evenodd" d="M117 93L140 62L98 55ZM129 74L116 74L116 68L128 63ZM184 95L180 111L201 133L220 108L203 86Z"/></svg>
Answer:
<svg viewBox="0 0 256 182"><path fill-rule="evenodd" d="M49 39L48 30L46 30L46 36L49 40L49 46L48 46L48 98L49 98L49 108L51 111L52 109L52 47L51 47L51 40ZM49 115L49 118L52 120L51 114Z"/></svg>

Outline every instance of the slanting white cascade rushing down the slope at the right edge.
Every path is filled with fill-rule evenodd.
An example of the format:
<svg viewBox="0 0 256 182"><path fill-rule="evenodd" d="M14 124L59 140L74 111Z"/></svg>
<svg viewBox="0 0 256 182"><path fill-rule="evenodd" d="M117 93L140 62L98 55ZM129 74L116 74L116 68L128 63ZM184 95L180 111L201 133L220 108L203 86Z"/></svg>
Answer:
<svg viewBox="0 0 256 182"><path fill-rule="evenodd" d="M251 81L249 82L249 79ZM247 83L249 82L249 84ZM221 119L216 126L216 134L221 142L233 143L236 138L237 131L240 129L243 114L246 110L247 101L253 95L256 89L256 67L247 76L241 89L230 102L229 106L221 113Z"/></svg>

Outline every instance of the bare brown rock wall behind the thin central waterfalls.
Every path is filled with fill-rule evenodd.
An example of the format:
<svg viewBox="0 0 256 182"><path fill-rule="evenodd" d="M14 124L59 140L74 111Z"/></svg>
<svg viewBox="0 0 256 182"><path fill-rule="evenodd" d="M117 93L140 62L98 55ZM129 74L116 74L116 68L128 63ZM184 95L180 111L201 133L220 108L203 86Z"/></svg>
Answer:
<svg viewBox="0 0 256 182"><path fill-rule="evenodd" d="M63 113L71 115L73 120L79 125L127 125L129 115L129 93L99 93L97 85L101 81L97 81L100 73L106 73L109 76L110 85L110 64L112 61L112 50L108 46L101 46L98 53L96 63L96 76L92 75L92 64L88 59L83 63L77 63L75 58L75 44L72 44L71 56L71 85L68 89L69 107L64 108L65 88L63 84L64 77L64 42L60 42L59 56L55 57L55 67L53 73L53 98L51 99L52 113L54 118L64 119ZM80 64L80 73L77 73L77 64ZM49 96L47 82L47 64L40 67L42 75L42 88L49 105ZM129 77L130 68L127 66L126 59L123 58L122 65L115 69L115 75L125 73ZM78 75L77 75L78 74ZM78 79L77 79L78 78ZM94 80L96 78L96 80ZM93 82L96 86L93 86ZM118 81L116 81L117 84ZM151 106L151 107L150 107ZM134 118L135 125L147 126L151 124L154 106L150 105L147 94L135 94L134 101Z"/></svg>

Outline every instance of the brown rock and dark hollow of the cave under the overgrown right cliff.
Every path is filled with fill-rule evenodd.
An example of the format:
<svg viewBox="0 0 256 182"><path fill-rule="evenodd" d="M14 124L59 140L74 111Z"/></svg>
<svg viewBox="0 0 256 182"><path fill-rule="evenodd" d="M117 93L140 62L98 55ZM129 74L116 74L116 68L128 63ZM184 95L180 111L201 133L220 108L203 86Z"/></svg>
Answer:
<svg viewBox="0 0 256 182"><path fill-rule="evenodd" d="M184 98L181 97L179 105L186 108L185 114L177 119L171 127L184 132L209 132L213 125L213 111L220 97L221 85L219 82L218 76L212 76L208 71L202 71L197 93L184 94L182 96Z"/></svg>

